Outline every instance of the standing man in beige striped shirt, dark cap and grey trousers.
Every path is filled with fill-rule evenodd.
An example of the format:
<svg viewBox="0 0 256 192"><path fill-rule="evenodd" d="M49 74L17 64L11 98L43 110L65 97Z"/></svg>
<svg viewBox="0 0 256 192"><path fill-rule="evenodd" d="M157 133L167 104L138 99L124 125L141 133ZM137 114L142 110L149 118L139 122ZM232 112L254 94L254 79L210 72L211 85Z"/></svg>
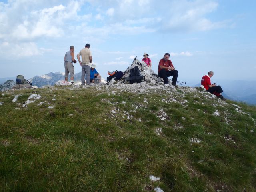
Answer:
<svg viewBox="0 0 256 192"><path fill-rule="evenodd" d="M82 62L80 60L80 56L82 56ZM77 54L77 59L79 61L79 64L82 67L82 75L81 75L81 81L82 85L85 85L84 77L86 74L86 84L90 84L90 65L92 62L92 53L90 51L90 44L86 43L85 48L80 50L80 52Z"/></svg>

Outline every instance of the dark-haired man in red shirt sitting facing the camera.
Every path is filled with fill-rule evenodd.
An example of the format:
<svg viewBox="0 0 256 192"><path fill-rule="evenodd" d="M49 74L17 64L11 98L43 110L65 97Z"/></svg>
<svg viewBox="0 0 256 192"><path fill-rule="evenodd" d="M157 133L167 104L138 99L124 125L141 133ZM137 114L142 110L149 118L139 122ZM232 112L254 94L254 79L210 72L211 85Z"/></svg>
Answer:
<svg viewBox="0 0 256 192"><path fill-rule="evenodd" d="M168 77L172 77L172 85L175 86L178 78L178 71L172 65L172 61L169 60L170 54L164 54L164 58L160 59L158 64L158 76L164 80L164 85L168 85Z"/></svg>

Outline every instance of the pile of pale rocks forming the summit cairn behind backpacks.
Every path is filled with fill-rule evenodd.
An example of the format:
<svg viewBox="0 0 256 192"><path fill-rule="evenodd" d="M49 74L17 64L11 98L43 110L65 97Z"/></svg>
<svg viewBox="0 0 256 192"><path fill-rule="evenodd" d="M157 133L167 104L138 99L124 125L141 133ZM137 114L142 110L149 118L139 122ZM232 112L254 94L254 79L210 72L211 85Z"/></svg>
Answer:
<svg viewBox="0 0 256 192"><path fill-rule="evenodd" d="M156 74L154 71L152 71L151 67L148 67L144 61L140 62L137 59L137 57L134 58L132 64L124 71L123 78L129 77L130 70L136 66L138 66L141 75L143 75L145 77L146 82L150 82L153 84L162 82L161 78L158 76L158 74Z"/></svg>

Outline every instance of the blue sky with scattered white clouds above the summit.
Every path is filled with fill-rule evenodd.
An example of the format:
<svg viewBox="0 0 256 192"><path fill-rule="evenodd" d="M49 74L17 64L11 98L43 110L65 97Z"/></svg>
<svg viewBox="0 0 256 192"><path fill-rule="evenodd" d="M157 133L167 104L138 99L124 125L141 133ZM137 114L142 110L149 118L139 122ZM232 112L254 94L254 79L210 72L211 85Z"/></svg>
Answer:
<svg viewBox="0 0 256 192"><path fill-rule="evenodd" d="M168 52L182 82L256 80L255 18L255 0L4 0L0 78L64 72L69 47L89 43L104 78L144 52L157 72Z"/></svg>

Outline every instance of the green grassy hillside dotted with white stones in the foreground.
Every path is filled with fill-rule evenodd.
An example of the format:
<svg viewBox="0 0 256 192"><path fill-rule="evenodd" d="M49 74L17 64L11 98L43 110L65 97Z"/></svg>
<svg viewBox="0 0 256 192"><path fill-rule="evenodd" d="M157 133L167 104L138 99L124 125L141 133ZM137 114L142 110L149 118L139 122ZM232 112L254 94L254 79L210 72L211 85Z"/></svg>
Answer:
<svg viewBox="0 0 256 192"><path fill-rule="evenodd" d="M144 83L0 102L0 191L256 191L255 107Z"/></svg>

